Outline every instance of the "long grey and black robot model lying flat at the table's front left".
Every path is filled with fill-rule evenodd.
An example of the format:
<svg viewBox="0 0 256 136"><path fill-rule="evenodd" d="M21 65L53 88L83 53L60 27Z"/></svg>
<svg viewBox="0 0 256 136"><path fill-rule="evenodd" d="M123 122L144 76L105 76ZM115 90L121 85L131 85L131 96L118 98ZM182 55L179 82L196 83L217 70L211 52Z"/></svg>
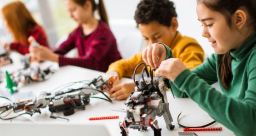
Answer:
<svg viewBox="0 0 256 136"><path fill-rule="evenodd" d="M14 113L25 111L23 114L41 114L41 108L49 107L50 112L63 111L64 115L71 115L75 108L85 109L85 105L90 102L90 95L83 94L80 90L65 94L51 94L42 92L38 98L19 100L19 102L6 104L0 107L0 112L12 109ZM4 118L1 118L4 119ZM12 119L12 118L8 118Z"/></svg>

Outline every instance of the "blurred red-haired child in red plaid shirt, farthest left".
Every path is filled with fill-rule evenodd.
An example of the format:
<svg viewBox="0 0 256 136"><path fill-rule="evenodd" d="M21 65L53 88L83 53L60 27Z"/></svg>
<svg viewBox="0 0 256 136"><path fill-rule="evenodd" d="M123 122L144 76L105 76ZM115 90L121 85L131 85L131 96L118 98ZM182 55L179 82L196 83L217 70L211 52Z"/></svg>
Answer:
<svg viewBox="0 0 256 136"><path fill-rule="evenodd" d="M33 36L42 46L49 47L45 32L22 2L8 3L2 8L2 15L4 23L14 39L13 43L4 45L6 51L11 49L21 54L29 53L29 36Z"/></svg>

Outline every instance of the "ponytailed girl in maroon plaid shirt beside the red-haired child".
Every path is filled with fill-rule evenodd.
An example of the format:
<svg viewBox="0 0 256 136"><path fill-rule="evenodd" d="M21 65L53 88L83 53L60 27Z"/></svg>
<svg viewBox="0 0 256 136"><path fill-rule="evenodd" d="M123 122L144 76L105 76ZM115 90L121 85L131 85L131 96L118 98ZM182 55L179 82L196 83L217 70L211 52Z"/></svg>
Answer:
<svg viewBox="0 0 256 136"><path fill-rule="evenodd" d="M58 62L59 66L73 65L106 72L112 62L121 59L116 39L108 26L104 3L94 0L66 0L65 6L78 27L54 52L45 47L30 48L31 52L45 61ZM93 15L99 7L101 21ZM73 48L78 49L79 57L63 56Z"/></svg>

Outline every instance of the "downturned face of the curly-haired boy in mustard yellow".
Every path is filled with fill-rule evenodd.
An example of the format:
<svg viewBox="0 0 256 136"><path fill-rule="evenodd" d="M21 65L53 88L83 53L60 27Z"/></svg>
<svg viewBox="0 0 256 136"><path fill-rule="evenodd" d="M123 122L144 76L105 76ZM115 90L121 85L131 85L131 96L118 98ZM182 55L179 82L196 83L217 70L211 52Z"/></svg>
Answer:
<svg viewBox="0 0 256 136"><path fill-rule="evenodd" d="M163 26L157 21L152 21L149 24L139 24L138 27L147 45L161 42L170 47L176 35L176 29L172 29L171 26Z"/></svg>

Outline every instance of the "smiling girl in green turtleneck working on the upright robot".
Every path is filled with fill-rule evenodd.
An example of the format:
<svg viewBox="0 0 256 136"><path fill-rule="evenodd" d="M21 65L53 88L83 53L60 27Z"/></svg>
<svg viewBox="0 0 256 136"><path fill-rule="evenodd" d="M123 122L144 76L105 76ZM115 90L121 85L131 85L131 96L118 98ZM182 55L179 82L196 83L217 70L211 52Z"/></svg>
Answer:
<svg viewBox="0 0 256 136"><path fill-rule="evenodd" d="M250 0L198 0L202 36L215 54L193 70L177 58L164 61L170 49L161 44L152 44L143 53L146 63L158 67L156 74L173 82L177 97L190 97L236 135L256 134L252 127L256 122L255 7L256 2ZM222 93L210 86L215 82Z"/></svg>

